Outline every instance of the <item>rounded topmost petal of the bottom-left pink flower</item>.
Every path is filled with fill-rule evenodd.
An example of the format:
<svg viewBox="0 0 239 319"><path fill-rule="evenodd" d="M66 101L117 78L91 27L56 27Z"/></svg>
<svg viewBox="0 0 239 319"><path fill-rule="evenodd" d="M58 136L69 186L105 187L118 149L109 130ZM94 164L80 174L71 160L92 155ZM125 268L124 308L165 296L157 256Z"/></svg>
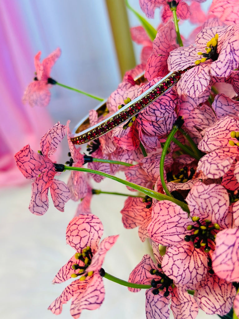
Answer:
<svg viewBox="0 0 239 319"><path fill-rule="evenodd" d="M103 225L95 215L79 215L74 217L66 229L66 242L76 251L81 252L90 246L93 254L98 249L103 234Z"/></svg>

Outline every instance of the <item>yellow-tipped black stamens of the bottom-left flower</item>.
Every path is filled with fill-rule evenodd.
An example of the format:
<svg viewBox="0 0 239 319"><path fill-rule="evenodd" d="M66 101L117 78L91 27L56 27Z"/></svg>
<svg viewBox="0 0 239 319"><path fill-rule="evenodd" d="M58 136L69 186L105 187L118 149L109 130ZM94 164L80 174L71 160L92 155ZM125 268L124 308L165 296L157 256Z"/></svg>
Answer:
<svg viewBox="0 0 239 319"><path fill-rule="evenodd" d="M75 263L71 266L72 269L78 271L78 273L71 274L71 277L76 278L78 276L81 276L79 280L85 280L87 276L92 276L93 271L86 272L87 267L89 267L91 264L92 257L93 253L91 251L90 246L87 246L86 248L82 249L81 253L76 253L75 258L79 261L82 261L83 264L80 265L78 263Z"/></svg>

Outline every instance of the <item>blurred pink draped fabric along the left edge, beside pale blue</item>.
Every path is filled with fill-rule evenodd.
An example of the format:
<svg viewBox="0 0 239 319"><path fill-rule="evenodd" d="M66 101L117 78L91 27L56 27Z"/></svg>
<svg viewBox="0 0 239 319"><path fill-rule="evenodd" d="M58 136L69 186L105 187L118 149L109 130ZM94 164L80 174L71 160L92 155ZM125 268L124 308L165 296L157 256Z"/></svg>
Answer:
<svg viewBox="0 0 239 319"><path fill-rule="evenodd" d="M0 5L0 187L25 182L14 154L30 144L39 149L40 138L52 127L46 108L31 108L21 101L34 77L28 33L17 1L1 0Z"/></svg>

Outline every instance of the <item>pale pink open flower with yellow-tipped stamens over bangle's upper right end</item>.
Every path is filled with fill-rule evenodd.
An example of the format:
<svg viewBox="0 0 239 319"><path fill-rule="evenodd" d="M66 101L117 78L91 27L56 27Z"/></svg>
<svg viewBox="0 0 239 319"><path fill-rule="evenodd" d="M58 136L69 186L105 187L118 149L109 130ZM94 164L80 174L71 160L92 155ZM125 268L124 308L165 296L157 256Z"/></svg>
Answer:
<svg viewBox="0 0 239 319"><path fill-rule="evenodd" d="M218 34L218 41L208 44L210 52L205 62L185 72L177 84L179 95L199 97L212 84L212 78L228 77L239 65L239 25L217 26L203 29L196 37L196 46L180 47L170 52L170 71L183 70L200 61L198 52L205 53L207 43ZM203 57L204 58L204 57Z"/></svg>

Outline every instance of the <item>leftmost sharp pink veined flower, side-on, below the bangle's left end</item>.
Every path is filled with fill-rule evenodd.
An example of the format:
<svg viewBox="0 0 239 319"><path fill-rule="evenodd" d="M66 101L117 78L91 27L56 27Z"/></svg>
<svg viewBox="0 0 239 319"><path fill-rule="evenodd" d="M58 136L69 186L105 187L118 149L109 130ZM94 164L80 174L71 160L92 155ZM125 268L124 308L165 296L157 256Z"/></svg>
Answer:
<svg viewBox="0 0 239 319"><path fill-rule="evenodd" d="M35 215L43 215L48 209L48 189L50 189L54 206L64 211L65 203L70 199L67 185L54 176L62 172L64 165L55 164L51 156L66 133L66 126L56 123L40 141L41 151L34 152L29 145L24 146L14 158L21 173L32 183L32 199L29 210Z"/></svg>

